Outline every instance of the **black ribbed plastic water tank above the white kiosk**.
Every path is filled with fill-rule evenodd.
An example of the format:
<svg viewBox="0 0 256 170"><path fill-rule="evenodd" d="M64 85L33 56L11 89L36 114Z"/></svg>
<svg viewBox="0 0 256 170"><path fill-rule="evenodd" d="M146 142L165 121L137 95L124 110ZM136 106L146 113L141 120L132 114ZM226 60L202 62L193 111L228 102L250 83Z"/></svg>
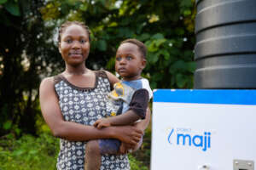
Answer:
<svg viewBox="0 0 256 170"><path fill-rule="evenodd" d="M256 88L256 0L197 0L195 88Z"/></svg>

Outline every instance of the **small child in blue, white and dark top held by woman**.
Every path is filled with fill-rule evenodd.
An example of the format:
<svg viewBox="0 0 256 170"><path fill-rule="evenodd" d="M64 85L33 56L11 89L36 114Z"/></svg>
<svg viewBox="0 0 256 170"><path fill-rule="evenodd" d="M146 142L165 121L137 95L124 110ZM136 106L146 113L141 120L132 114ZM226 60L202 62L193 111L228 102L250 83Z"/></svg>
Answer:
<svg viewBox="0 0 256 170"><path fill-rule="evenodd" d="M146 46L137 39L121 42L116 53L115 71L122 77L122 81L115 83L113 91L108 94L108 117L97 120L94 123L95 127L100 129L132 125L145 118L148 101L153 95L148 80L141 77L147 62L146 54ZM118 154L120 147L121 142L117 139L88 141L85 148L84 169L99 170L101 155Z"/></svg>

